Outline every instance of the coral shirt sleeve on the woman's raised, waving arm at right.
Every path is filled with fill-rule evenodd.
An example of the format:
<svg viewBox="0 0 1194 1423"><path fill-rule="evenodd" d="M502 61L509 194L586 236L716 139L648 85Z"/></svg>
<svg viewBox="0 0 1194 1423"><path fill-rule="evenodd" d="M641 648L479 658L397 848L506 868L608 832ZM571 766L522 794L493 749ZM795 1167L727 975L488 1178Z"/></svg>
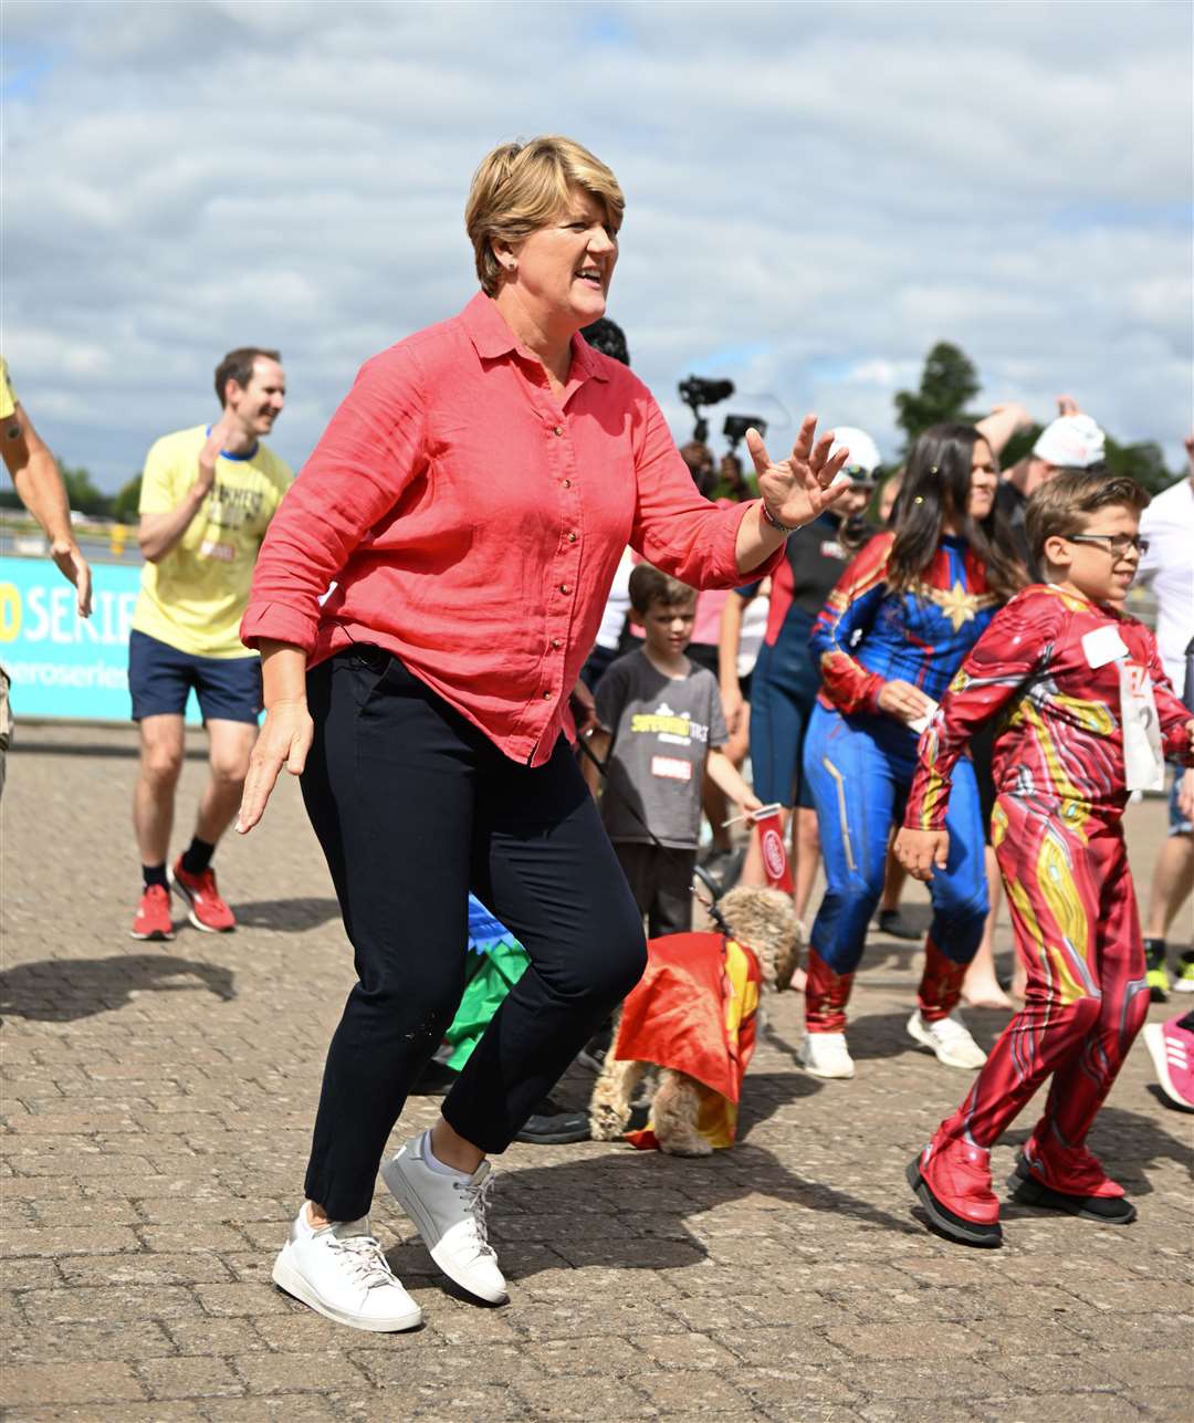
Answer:
<svg viewBox="0 0 1194 1423"><path fill-rule="evenodd" d="M757 568L739 568L739 528L751 504L723 509L703 498L645 387L642 411L635 430L635 552L692 588L737 588L774 572L784 556L783 545Z"/></svg>

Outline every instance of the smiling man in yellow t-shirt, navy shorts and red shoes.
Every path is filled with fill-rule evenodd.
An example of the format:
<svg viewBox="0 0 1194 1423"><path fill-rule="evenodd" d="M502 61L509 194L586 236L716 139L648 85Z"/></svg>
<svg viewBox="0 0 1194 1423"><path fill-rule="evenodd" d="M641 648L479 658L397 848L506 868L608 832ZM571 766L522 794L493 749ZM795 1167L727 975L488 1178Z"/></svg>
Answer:
<svg viewBox="0 0 1194 1423"><path fill-rule="evenodd" d="M138 529L145 568L128 642L128 690L141 727L132 821L145 881L134 939L174 938L171 888L196 929L236 926L211 861L241 804L262 706L260 660L238 628L258 549L292 478L260 443L286 400L280 360L256 346L229 351L215 373L219 420L165 435L145 460ZM208 730L211 777L194 838L167 869L192 687Z"/></svg>

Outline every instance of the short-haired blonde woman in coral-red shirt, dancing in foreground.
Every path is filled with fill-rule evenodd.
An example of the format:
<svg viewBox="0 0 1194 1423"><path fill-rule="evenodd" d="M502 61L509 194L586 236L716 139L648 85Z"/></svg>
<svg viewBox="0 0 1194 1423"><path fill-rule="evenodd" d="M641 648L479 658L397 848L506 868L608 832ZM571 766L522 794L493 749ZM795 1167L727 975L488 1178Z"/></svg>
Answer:
<svg viewBox="0 0 1194 1423"><path fill-rule="evenodd" d="M360 1329L420 1321L367 1212L461 996L468 889L531 965L435 1127L381 1170L481 1299L505 1299L485 1154L642 973L642 921L564 736L622 549L699 588L759 578L848 454L830 460L808 417L788 460L751 438L761 499L697 494L646 387L576 334L605 312L622 209L571 139L485 158L465 212L481 292L364 364L270 525L242 623L266 720L238 828L283 763L302 776L359 976L273 1278Z"/></svg>

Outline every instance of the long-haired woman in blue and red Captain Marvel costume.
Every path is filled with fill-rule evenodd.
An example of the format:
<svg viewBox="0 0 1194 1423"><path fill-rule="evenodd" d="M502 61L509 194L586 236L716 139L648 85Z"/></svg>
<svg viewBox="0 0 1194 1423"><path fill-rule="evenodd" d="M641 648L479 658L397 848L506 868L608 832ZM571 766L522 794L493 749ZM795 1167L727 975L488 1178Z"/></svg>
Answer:
<svg viewBox="0 0 1194 1423"><path fill-rule="evenodd" d="M823 689L804 741L827 889L813 925L800 1060L852 1077L845 1006L901 822L916 739L953 673L1025 581L995 509L998 468L972 425L926 430L912 447L895 528L877 534L834 588L813 629ZM988 911L983 827L969 761L951 801L951 861L931 885L925 970L908 1032L951 1067L983 1053L956 1007Z"/></svg>

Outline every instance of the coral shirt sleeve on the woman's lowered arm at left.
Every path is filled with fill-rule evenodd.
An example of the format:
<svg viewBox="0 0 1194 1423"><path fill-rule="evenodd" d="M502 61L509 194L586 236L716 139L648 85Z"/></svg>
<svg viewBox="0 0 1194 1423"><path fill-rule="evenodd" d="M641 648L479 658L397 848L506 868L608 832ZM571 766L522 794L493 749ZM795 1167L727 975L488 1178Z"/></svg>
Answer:
<svg viewBox="0 0 1194 1423"><path fill-rule="evenodd" d="M241 640L310 652L320 599L369 531L427 465L417 359L394 349L367 361L270 521Z"/></svg>

